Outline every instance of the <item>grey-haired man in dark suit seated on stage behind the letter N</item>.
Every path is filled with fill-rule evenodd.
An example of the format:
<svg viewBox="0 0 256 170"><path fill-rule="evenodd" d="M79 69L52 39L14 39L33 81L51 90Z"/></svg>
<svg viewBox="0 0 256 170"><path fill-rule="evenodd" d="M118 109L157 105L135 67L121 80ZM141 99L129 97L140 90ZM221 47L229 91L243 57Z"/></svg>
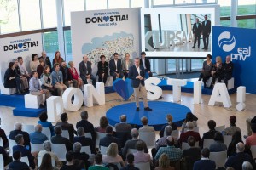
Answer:
<svg viewBox="0 0 256 170"><path fill-rule="evenodd" d="M91 74L91 63L86 55L84 55L83 61L79 64L79 71L84 84L88 84L87 79L91 79L92 85L96 87L96 77Z"/></svg>

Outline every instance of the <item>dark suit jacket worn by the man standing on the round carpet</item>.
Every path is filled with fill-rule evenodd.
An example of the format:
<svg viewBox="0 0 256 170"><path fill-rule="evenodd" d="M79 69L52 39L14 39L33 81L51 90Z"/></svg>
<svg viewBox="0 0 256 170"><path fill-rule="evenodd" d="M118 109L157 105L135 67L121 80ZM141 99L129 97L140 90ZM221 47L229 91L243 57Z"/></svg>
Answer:
<svg viewBox="0 0 256 170"><path fill-rule="evenodd" d="M144 67L143 65L140 65L140 75L142 77L145 76L145 70L144 70ZM138 72L137 72L137 68L135 65L132 65L129 69L129 78L131 79L131 86L132 88L138 88L140 83L142 83L142 85L144 86L145 85L145 82L144 82L144 79L143 80L140 80L138 78L136 78L138 76Z"/></svg>

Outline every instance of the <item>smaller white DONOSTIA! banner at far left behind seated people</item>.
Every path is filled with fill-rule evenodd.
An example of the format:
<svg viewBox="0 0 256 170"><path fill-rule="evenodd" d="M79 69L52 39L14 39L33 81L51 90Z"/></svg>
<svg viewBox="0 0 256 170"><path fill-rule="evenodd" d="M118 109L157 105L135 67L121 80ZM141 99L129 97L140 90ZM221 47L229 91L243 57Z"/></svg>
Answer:
<svg viewBox="0 0 256 170"><path fill-rule="evenodd" d="M8 64L13 59L21 56L26 65L27 71L31 61L32 54L41 56L42 48L42 35L41 33L29 34L25 36L6 37L0 39L0 82L3 82L3 77Z"/></svg>

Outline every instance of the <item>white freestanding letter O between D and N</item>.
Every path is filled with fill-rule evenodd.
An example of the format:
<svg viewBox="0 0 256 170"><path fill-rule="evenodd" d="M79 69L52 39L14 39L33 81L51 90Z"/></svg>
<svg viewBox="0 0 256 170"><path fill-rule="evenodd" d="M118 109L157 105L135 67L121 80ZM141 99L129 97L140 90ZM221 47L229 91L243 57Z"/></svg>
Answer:
<svg viewBox="0 0 256 170"><path fill-rule="evenodd" d="M74 97L73 103L72 97ZM79 88L67 88L62 95L64 108L67 111L79 111L83 105L83 98L83 92Z"/></svg>

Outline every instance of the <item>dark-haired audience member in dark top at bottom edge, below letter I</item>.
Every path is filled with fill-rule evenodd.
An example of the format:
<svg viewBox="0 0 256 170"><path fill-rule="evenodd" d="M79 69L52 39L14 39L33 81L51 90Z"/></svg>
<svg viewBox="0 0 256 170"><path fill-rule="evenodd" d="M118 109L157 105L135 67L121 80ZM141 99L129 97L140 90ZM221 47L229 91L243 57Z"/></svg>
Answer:
<svg viewBox="0 0 256 170"><path fill-rule="evenodd" d="M201 160L195 161L193 170L215 170L216 164L214 161L209 160L210 150L208 148L204 148L201 150Z"/></svg>

